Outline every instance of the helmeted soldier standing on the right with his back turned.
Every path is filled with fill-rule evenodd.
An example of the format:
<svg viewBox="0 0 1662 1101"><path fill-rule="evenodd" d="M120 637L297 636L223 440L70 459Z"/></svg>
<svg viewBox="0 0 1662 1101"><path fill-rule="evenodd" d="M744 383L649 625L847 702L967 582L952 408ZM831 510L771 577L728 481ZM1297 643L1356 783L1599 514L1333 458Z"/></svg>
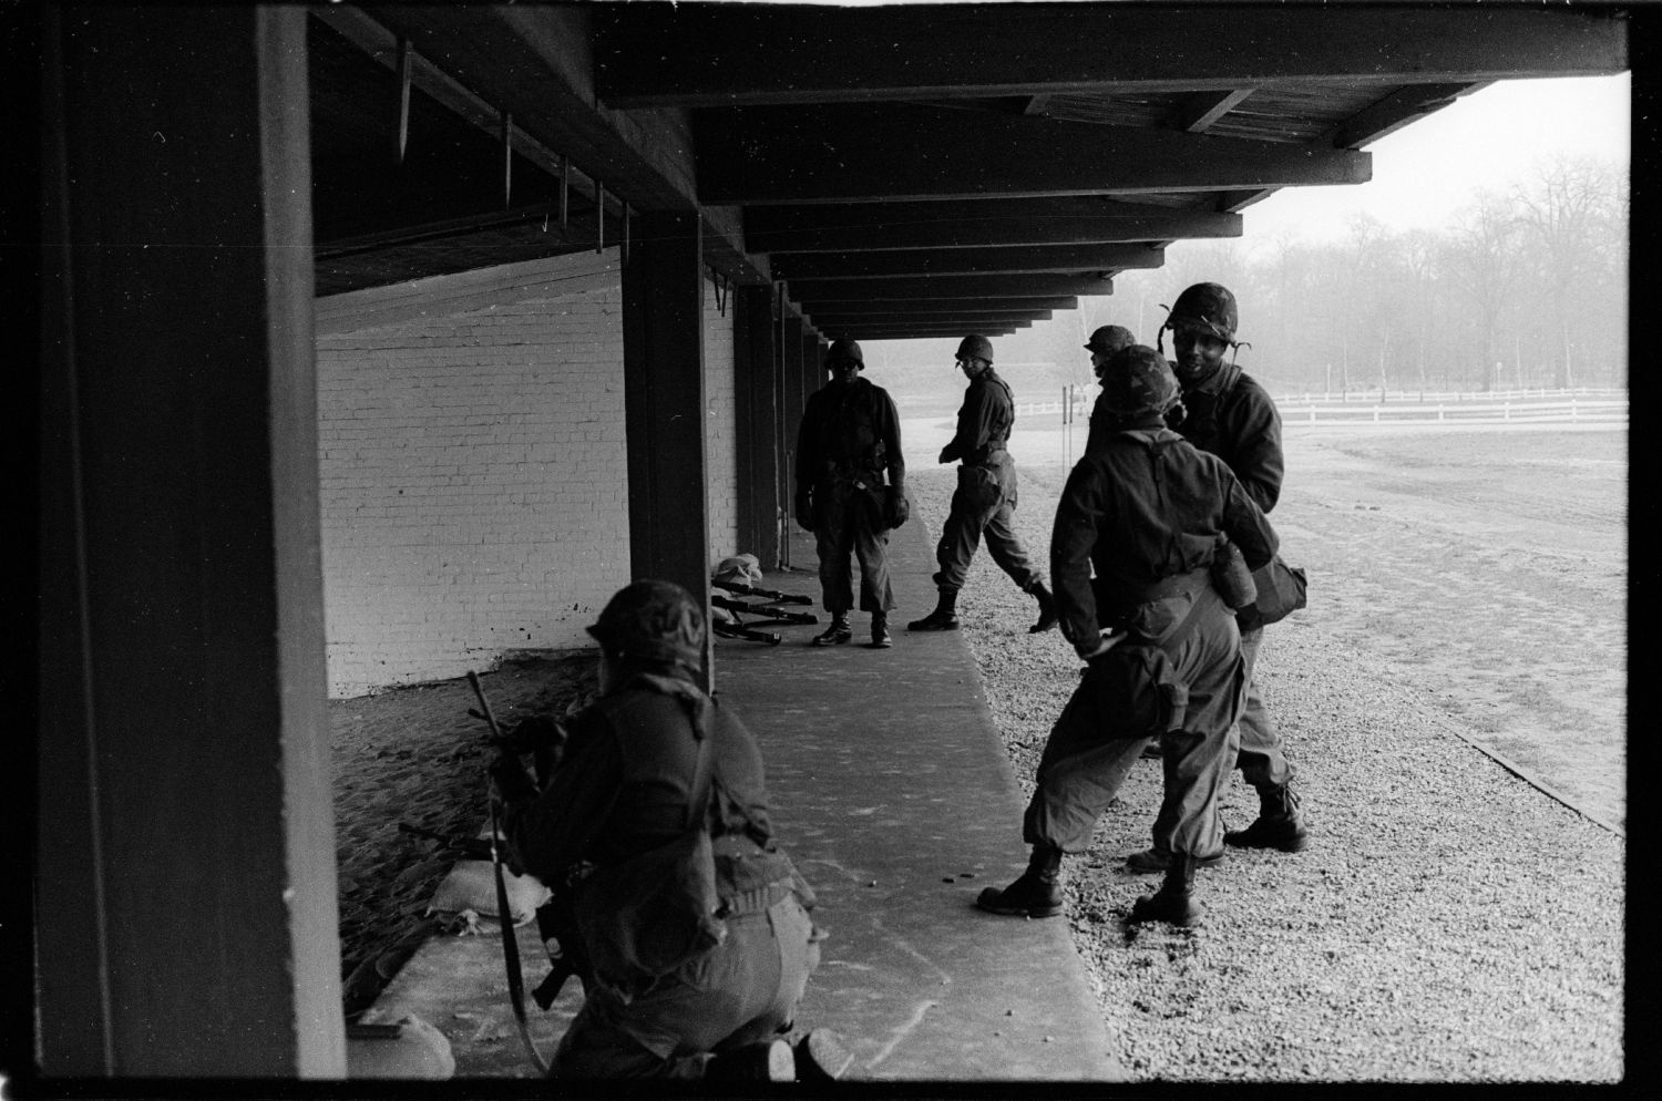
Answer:
<svg viewBox="0 0 1662 1101"><path fill-rule="evenodd" d="M1212 560L1227 535L1261 566L1276 536L1222 460L1167 428L1177 397L1153 349L1132 345L1109 360L1107 437L1069 473L1050 533L1062 636L1085 671L1039 761L1022 819L1027 870L1004 890L984 890L984 910L1062 912L1062 855L1090 847L1097 819L1153 737L1165 751L1170 857L1165 882L1137 900L1130 920L1192 923L1195 869L1223 852L1217 797L1235 757L1245 668Z"/></svg>

